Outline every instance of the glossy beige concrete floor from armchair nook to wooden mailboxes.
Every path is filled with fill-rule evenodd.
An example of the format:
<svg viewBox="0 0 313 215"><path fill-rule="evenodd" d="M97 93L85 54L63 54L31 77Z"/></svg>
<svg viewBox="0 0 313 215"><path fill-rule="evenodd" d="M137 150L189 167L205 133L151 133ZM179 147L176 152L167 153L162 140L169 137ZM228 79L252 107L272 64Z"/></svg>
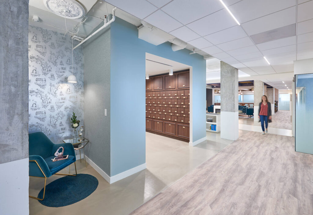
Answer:
<svg viewBox="0 0 313 215"><path fill-rule="evenodd" d="M239 136L248 131L239 130ZM180 178L212 158L233 141L220 138L219 133L207 132L207 141L195 147L172 138L146 133L147 169L113 184L109 184L85 161L76 162L78 173L95 176L99 185L95 192L75 204L56 208L46 207L37 200L29 199L30 214L110 214L126 215L156 196ZM68 168L62 171L68 172ZM74 167L71 167L71 173ZM60 178L51 176L47 184ZM42 178L30 177L29 193L37 196L44 185ZM82 187L83 188L83 187ZM69 193L70 197L70 193Z"/></svg>

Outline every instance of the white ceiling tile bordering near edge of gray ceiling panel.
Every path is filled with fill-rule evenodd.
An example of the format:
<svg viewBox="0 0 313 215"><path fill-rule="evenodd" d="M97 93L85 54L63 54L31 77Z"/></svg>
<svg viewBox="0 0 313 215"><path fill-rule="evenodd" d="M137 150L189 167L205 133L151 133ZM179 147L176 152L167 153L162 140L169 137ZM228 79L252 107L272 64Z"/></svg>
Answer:
<svg viewBox="0 0 313 215"><path fill-rule="evenodd" d="M254 35L295 23L295 7L287 8L242 24L248 35Z"/></svg>

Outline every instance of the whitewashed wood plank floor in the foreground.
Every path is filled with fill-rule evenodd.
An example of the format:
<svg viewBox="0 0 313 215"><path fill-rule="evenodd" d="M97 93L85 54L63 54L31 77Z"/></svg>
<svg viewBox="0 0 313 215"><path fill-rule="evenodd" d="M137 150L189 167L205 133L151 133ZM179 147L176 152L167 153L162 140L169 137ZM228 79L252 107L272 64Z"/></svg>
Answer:
<svg viewBox="0 0 313 215"><path fill-rule="evenodd" d="M313 214L313 155L293 137L249 132L134 214Z"/></svg>

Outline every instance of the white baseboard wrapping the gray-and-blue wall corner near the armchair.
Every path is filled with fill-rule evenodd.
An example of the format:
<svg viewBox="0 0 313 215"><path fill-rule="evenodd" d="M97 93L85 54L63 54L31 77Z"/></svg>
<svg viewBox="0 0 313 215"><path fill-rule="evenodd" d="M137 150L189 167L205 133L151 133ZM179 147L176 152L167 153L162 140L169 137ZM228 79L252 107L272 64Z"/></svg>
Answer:
<svg viewBox="0 0 313 215"><path fill-rule="evenodd" d="M139 166L136 166L134 168L131 168L129 170L126 170L125 172L119 173L117 175L114 176L109 176L108 174L106 174L100 167L97 166L97 164L95 164L92 160L90 160L87 156L85 156L85 159L87 161L87 163L90 164L90 166L92 166L107 182L114 183L117 182L123 178L126 178L132 174L138 173L141 170L144 170L147 168L147 164L143 163Z"/></svg>

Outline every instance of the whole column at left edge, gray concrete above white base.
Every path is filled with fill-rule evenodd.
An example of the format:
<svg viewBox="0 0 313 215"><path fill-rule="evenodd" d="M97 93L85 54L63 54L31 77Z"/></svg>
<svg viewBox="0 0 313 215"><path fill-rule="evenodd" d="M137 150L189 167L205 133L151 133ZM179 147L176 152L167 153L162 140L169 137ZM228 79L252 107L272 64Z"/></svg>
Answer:
<svg viewBox="0 0 313 215"><path fill-rule="evenodd" d="M28 214L28 0L0 14L0 214Z"/></svg>

